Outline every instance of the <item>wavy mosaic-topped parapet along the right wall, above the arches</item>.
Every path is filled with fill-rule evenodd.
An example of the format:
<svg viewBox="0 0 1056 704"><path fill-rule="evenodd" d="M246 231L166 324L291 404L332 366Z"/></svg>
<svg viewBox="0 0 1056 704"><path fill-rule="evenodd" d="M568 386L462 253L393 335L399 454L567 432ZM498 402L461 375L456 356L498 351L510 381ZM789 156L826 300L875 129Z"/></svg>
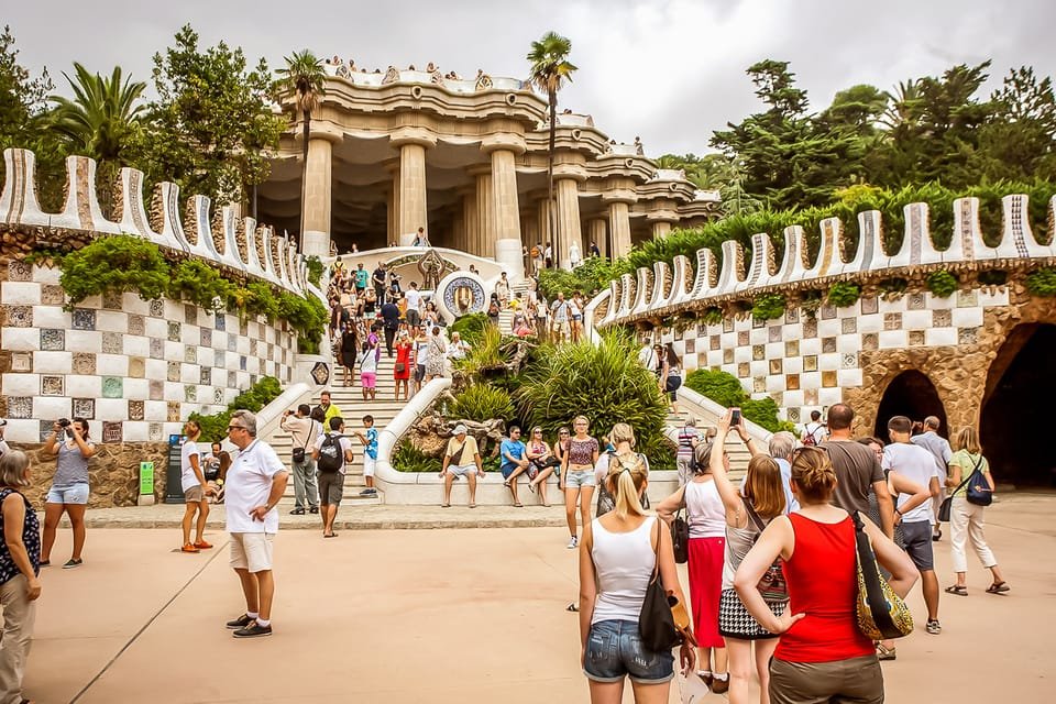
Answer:
<svg viewBox="0 0 1056 704"><path fill-rule="evenodd" d="M698 250L695 265L682 255L674 258L673 266L656 262L652 270L640 267L635 275L624 274L609 283L609 289L595 298L600 304L607 298L607 309L594 324L657 321L684 310L722 307L766 293L824 289L837 280L921 278L936 270L1028 268L1056 258L1056 243L1043 244L1031 231L1025 217L1026 196L1002 199L1003 222L997 246L987 244L982 237L978 198L959 198L953 208L954 232L945 250L937 249L931 237L927 205L911 204L904 209L902 245L894 254L884 250L881 213L868 210L858 213L858 246L849 260L843 256L851 249L844 224L838 218L828 218L821 222L821 245L813 262L809 261L806 237L799 226L784 230L780 267L774 264L774 246L766 233L752 235L747 257L740 243L730 240L723 243L718 257L708 249ZM1049 202L1049 221L1056 221L1056 197Z"/></svg>

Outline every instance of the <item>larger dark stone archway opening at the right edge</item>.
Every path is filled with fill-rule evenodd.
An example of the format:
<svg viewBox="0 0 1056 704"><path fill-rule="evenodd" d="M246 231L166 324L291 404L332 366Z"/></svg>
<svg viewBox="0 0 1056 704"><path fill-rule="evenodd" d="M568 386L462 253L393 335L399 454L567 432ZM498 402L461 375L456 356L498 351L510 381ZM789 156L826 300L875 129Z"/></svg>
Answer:
<svg viewBox="0 0 1056 704"><path fill-rule="evenodd" d="M996 479L1056 485L1056 446L1048 404L1056 398L1056 324L1012 330L987 374L979 417L983 452Z"/></svg>

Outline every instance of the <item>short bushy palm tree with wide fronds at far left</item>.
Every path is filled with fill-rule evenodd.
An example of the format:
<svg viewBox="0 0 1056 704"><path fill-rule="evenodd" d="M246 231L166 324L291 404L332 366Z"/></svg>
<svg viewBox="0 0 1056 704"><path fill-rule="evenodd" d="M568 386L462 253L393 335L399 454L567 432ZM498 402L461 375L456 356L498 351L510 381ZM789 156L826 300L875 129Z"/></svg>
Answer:
<svg viewBox="0 0 1056 704"><path fill-rule="evenodd" d="M75 78L63 74L74 91L74 99L51 96L55 103L47 125L68 143L70 151L96 160L100 172L102 207L110 215L113 206L113 176L125 165L132 151L133 136L145 107L140 97L146 82L125 78L114 66L109 77L90 74L74 63Z"/></svg>

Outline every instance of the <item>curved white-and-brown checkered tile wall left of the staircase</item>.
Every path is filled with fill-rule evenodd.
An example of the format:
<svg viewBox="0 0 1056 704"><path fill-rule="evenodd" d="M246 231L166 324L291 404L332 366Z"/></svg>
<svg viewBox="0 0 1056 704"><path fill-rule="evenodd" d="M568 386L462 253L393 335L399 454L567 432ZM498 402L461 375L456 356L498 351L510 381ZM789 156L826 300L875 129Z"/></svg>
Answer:
<svg viewBox="0 0 1056 704"><path fill-rule="evenodd" d="M261 320L135 294L62 308L58 268L12 262L0 285L6 438L37 442L84 416L107 442L160 441L191 413L222 410L261 376L290 381L296 336Z"/></svg>

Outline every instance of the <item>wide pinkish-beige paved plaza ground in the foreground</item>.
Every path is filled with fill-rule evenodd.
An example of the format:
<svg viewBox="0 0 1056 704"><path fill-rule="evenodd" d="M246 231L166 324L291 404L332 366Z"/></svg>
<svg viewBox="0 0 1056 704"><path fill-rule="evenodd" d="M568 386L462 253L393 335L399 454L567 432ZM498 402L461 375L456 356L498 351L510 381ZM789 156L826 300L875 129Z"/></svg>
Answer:
<svg viewBox="0 0 1056 704"><path fill-rule="evenodd" d="M377 520L460 525L435 517L439 508L400 510L409 516ZM507 520L508 512L560 518L559 509L525 508L473 520ZM914 592L917 631L883 666L889 702L1049 701L1054 513L1052 494L1004 495L989 510L987 535L1012 592L985 594L987 575L969 558L970 596L943 595L943 635L924 632ZM578 619L564 610L576 594L575 553L561 528L343 530L333 540L280 532L275 635L250 641L223 628L242 602L226 536L207 537L216 550L182 554L172 551L172 528L89 530L84 566L43 574L25 694L82 704L587 701ZM56 561L68 551L67 530ZM948 585L947 538L937 568ZM685 686L673 688L671 702ZM691 680L688 691L695 688Z"/></svg>

